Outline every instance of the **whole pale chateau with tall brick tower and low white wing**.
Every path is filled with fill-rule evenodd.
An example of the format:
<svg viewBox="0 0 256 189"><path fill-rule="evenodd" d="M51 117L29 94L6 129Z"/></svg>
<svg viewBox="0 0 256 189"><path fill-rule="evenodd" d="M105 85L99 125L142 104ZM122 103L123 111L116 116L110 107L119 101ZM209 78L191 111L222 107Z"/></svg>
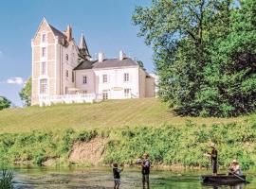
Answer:
<svg viewBox="0 0 256 189"><path fill-rule="evenodd" d="M106 59L100 52L98 60L93 60L83 34L77 45L71 26L60 31L44 18L31 48L32 105L155 96L155 75L123 51L115 59Z"/></svg>

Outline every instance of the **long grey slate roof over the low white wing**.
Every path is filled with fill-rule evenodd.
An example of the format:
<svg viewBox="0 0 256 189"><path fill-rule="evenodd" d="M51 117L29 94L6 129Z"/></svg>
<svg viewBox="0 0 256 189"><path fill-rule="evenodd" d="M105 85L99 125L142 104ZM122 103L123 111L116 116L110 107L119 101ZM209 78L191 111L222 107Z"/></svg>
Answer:
<svg viewBox="0 0 256 189"><path fill-rule="evenodd" d="M119 59L105 59L102 62L98 60L90 61L83 60L74 70L84 70L84 69L97 69L97 68L113 68L113 67L124 67L124 66L136 66L138 65L135 60L130 58L125 58L123 60Z"/></svg>

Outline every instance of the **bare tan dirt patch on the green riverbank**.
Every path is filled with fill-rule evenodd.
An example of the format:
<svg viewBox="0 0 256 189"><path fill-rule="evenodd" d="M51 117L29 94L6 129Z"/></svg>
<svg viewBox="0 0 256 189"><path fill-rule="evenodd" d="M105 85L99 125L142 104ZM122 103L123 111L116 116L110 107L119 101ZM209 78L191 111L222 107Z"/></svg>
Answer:
<svg viewBox="0 0 256 189"><path fill-rule="evenodd" d="M69 161L97 165L101 163L105 144L106 141L102 138L94 138L89 142L77 142L72 146Z"/></svg>

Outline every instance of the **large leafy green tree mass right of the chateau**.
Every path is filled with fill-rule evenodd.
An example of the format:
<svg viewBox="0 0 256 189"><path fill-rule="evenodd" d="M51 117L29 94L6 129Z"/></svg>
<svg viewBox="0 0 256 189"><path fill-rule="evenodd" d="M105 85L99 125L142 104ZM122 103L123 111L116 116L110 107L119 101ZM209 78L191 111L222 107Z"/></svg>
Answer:
<svg viewBox="0 0 256 189"><path fill-rule="evenodd" d="M133 22L154 48L159 95L177 113L256 110L255 0L153 0Z"/></svg>

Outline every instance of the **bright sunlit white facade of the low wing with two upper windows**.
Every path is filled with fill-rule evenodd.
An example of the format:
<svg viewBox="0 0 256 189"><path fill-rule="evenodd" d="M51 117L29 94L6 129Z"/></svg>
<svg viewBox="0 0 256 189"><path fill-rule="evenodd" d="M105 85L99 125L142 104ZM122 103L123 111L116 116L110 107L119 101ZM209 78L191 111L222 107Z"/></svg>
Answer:
<svg viewBox="0 0 256 189"><path fill-rule="evenodd" d="M94 69L96 94L108 93L110 99L125 98L124 89L131 90L131 97L139 97L138 66L126 68ZM129 81L124 81L124 73L129 74ZM103 83L103 75L107 75L107 82Z"/></svg>

